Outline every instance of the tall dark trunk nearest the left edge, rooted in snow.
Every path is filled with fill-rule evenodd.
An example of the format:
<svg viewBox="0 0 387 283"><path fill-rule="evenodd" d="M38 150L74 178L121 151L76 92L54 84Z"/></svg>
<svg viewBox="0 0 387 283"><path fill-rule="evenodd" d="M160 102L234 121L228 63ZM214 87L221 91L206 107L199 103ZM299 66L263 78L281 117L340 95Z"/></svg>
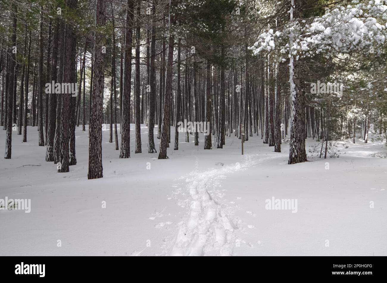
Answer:
<svg viewBox="0 0 387 283"><path fill-rule="evenodd" d="M10 36L10 43L12 46L16 46L16 27L17 27L17 6L15 2L11 4L11 18L12 20L12 34ZM15 61L16 55L11 52L9 62L9 83L8 87L8 108L7 108L7 133L5 137L5 159L11 159L11 148L12 148L12 107L14 98L14 75L15 75Z"/></svg>

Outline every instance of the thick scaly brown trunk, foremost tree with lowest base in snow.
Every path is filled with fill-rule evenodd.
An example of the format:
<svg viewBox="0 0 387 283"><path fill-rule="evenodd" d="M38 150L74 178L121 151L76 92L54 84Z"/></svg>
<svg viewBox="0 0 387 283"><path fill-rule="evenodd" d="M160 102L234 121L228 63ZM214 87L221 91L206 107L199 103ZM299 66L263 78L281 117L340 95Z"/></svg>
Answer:
<svg viewBox="0 0 387 283"><path fill-rule="evenodd" d="M94 43L94 79L89 127L89 172L87 179L103 177L102 167L102 107L104 89L104 58L102 53L105 35L98 28L106 24L106 0L96 2L96 32Z"/></svg>

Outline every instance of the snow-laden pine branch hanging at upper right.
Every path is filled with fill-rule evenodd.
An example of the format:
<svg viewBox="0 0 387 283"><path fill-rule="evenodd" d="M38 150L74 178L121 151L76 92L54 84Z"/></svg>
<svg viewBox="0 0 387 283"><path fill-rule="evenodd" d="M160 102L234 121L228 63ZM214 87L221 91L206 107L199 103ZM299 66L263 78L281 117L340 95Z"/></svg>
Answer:
<svg viewBox="0 0 387 283"><path fill-rule="evenodd" d="M296 60L323 53L329 57L337 53L350 53L354 49L368 49L378 53L386 42L387 1L373 0L367 4L353 1L347 7L337 6L325 15L305 21L291 21L283 31L270 29L260 34L249 49L255 55L262 51L272 53L276 61L285 61L286 55ZM293 34L293 42L289 35ZM286 54L286 55L285 55Z"/></svg>

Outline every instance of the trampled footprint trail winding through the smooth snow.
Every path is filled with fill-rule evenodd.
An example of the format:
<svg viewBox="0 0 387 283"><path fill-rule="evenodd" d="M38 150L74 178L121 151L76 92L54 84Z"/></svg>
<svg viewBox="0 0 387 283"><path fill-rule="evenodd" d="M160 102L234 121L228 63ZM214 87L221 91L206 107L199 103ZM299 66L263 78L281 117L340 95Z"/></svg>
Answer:
<svg viewBox="0 0 387 283"><path fill-rule="evenodd" d="M262 157L266 156L266 157ZM166 241L165 254L169 256L232 256L240 239L235 231L240 219L234 216L234 208L222 203L224 193L220 180L226 174L245 170L278 155L243 155L243 162L199 172L196 158L195 170L187 176L186 186L178 186L173 196L177 204L188 208L183 221L177 224L173 239ZM220 166L220 165L219 165ZM186 193L189 196L186 197Z"/></svg>

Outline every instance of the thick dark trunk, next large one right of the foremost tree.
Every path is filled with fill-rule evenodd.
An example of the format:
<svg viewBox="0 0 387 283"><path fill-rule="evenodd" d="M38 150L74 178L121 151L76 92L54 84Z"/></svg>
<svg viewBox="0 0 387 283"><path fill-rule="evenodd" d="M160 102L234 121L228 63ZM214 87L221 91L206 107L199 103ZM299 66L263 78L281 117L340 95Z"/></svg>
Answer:
<svg viewBox="0 0 387 283"><path fill-rule="evenodd" d="M134 0L127 0L124 52L124 85L122 97L122 132L120 158L130 157L130 80L132 77L132 27Z"/></svg>

